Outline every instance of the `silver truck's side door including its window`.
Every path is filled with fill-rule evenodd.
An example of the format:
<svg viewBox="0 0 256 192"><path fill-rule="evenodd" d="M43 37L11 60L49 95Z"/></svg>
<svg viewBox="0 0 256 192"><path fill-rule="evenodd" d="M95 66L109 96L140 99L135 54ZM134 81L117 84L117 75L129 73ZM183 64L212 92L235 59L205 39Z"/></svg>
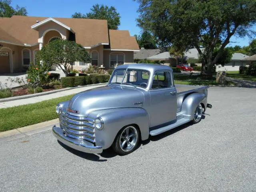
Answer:
<svg viewBox="0 0 256 192"><path fill-rule="evenodd" d="M168 123L176 118L177 92L169 70L154 73L150 88L150 127Z"/></svg>

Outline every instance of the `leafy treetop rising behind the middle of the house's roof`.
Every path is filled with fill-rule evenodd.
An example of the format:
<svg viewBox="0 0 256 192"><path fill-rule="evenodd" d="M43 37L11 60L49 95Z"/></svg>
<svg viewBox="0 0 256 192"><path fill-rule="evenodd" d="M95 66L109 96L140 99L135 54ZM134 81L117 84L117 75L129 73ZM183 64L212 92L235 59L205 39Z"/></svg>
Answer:
<svg viewBox="0 0 256 192"><path fill-rule="evenodd" d="M113 6L95 4L91 8L91 12L86 15L75 12L72 18L104 19L108 21L108 29L118 29L121 17Z"/></svg>

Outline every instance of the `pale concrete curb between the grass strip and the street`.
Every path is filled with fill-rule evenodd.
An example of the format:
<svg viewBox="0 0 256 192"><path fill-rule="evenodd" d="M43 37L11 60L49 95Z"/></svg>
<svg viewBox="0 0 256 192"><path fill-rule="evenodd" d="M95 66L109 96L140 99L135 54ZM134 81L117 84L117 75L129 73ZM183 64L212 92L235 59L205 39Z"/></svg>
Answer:
<svg viewBox="0 0 256 192"><path fill-rule="evenodd" d="M21 127L9 131L0 132L0 140L9 140L10 138L21 138L29 136L35 133L50 130L53 125L59 124L59 119L54 119L50 121L41 122L38 124ZM9 139L8 139L9 138Z"/></svg>

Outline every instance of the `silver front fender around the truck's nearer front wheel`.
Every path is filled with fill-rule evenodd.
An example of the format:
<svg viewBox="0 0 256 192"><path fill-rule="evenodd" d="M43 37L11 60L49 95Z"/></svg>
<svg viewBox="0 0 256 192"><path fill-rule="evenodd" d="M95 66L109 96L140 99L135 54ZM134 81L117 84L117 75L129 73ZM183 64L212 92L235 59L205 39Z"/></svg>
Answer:
<svg viewBox="0 0 256 192"><path fill-rule="evenodd" d="M103 149L109 148L118 132L126 125L136 124L140 129L141 139L149 136L149 117L142 108L116 108L94 111L88 116L95 119L101 117L104 122L102 130L95 129L96 145Z"/></svg>

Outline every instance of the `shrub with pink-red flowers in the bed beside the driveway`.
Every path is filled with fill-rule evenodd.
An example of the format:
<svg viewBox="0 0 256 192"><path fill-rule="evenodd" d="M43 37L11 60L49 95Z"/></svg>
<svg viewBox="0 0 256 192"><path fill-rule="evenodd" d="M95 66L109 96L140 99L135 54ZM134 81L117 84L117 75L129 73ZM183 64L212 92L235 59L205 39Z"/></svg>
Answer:
<svg viewBox="0 0 256 192"><path fill-rule="evenodd" d="M33 65L30 64L27 70L28 85L32 87L42 86L47 82L50 75L50 67L44 63Z"/></svg>

